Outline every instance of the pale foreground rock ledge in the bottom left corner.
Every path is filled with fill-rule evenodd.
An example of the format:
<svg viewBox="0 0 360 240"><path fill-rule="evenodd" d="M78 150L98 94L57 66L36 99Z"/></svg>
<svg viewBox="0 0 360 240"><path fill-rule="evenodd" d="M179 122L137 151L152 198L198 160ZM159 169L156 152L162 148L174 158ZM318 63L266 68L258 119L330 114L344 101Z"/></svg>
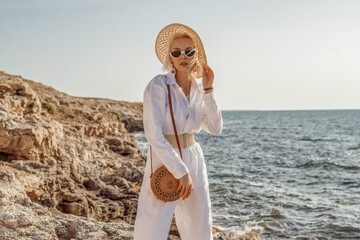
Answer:
<svg viewBox="0 0 360 240"><path fill-rule="evenodd" d="M22 181L31 174L0 166L0 239L132 239L125 221L99 222L31 201Z"/></svg>

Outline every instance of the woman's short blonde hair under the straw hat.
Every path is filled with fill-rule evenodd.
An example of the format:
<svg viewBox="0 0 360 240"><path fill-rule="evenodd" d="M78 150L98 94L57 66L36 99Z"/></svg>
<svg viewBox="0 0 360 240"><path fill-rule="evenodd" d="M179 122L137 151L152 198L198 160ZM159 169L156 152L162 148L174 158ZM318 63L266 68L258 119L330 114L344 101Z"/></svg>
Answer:
<svg viewBox="0 0 360 240"><path fill-rule="evenodd" d="M176 73L176 69L173 68L173 65L171 63L171 57L169 55L169 52L170 52L170 46L172 44L172 42L174 41L175 38L190 38L194 44L195 44L195 48L197 48L198 46L196 46L196 43L195 41L190 37L189 34L187 33L184 33L184 32L179 32L179 33L175 33L172 38L170 39L169 41L169 44L167 46L167 54L166 54L166 58L165 58L165 61L164 61L164 64L162 66L162 70L165 72L165 71L168 71L168 72L172 72L174 71L174 73ZM196 54L195 58L192 60L192 61L195 61L195 64L194 66L191 68L190 70L190 73L191 73L191 76L195 78L195 76L197 75L197 72L200 72L201 71L201 64L200 64L200 61L199 61L199 58L198 58L198 55Z"/></svg>

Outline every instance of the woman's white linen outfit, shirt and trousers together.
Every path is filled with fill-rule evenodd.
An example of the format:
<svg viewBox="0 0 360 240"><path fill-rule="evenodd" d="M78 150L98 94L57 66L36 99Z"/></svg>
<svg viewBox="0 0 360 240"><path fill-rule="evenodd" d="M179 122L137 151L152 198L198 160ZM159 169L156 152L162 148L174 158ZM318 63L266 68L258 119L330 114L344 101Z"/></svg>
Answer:
<svg viewBox="0 0 360 240"><path fill-rule="evenodd" d="M143 123L145 137L152 146L153 172L165 165L177 179L190 173L194 191L185 200L158 200L150 186L151 161L148 149L135 219L134 240L166 240L174 213L182 240L213 240L209 184L202 149L197 142L183 148L183 162L179 150L173 148L164 137L164 134L175 134L166 83L170 84L171 102L179 135L199 133L201 129L219 135L223 128L221 111L216 104L214 93L204 94L201 83L192 80L189 103L176 82L175 74L158 74L149 82L144 91Z"/></svg>

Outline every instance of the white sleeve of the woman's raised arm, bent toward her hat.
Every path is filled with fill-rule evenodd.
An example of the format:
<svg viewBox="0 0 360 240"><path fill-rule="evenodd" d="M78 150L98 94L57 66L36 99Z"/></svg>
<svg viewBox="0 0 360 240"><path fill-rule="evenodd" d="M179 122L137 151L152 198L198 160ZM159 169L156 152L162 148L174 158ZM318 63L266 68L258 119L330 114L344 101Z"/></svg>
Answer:
<svg viewBox="0 0 360 240"><path fill-rule="evenodd" d="M214 92L203 95L201 128L213 135L220 135L222 131L223 119Z"/></svg>

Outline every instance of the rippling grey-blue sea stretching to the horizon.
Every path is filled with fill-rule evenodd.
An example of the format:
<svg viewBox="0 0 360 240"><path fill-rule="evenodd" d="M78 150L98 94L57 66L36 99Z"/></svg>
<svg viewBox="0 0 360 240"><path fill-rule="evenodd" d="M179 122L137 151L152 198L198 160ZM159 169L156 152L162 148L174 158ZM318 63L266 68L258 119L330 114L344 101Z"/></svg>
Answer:
<svg viewBox="0 0 360 240"><path fill-rule="evenodd" d="M360 110L222 111L195 135L213 226L234 239L360 239ZM136 132L141 150L148 148Z"/></svg>

